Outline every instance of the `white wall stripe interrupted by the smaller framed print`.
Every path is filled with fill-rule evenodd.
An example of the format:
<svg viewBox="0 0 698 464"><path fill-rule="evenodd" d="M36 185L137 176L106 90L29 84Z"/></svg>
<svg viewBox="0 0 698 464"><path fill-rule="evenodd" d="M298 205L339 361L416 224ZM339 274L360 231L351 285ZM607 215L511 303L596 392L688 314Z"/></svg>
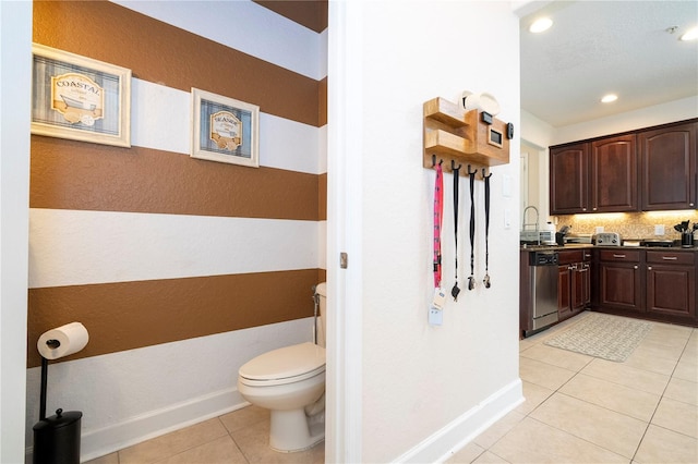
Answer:
<svg viewBox="0 0 698 464"><path fill-rule="evenodd" d="M189 155L191 151L191 94L147 81L131 83L132 145ZM326 130L260 113L260 164L318 174L320 145Z"/></svg>

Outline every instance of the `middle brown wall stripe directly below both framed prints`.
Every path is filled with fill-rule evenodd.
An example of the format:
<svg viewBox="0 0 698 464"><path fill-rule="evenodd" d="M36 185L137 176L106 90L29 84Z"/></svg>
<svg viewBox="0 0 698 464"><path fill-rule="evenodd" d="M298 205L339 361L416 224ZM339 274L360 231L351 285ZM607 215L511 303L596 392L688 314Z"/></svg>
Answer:
<svg viewBox="0 0 698 464"><path fill-rule="evenodd" d="M318 176L32 136L32 208L317 220Z"/></svg>

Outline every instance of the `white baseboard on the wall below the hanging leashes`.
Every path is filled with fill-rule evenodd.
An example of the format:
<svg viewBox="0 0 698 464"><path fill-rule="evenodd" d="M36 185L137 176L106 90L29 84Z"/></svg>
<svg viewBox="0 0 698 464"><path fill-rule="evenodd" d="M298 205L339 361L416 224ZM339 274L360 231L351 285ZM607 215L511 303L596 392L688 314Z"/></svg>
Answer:
<svg viewBox="0 0 698 464"><path fill-rule="evenodd" d="M444 462L524 401L521 379L517 378L394 462Z"/></svg>

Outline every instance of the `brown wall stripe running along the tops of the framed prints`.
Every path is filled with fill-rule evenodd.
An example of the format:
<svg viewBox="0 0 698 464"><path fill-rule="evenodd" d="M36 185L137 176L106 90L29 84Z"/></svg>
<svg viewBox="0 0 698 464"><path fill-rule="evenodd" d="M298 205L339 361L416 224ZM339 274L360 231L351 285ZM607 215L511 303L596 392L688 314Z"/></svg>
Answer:
<svg viewBox="0 0 698 464"><path fill-rule="evenodd" d="M35 1L34 41L320 126L317 81L108 1Z"/></svg>

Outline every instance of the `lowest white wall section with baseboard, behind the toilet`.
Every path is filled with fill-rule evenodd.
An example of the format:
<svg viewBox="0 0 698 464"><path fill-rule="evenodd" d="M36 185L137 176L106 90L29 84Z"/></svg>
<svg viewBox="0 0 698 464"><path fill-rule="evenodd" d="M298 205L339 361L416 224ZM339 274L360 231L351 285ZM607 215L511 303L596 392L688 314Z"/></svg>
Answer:
<svg viewBox="0 0 698 464"><path fill-rule="evenodd" d="M192 405L206 405L220 392L234 393L224 407L240 405L240 366L267 351L312 341L312 327L313 319L303 318L55 363L47 403L53 411L83 412L83 459L95 457L201 419L202 410ZM27 369L27 444L32 419L39 416L39 390L40 368Z"/></svg>

